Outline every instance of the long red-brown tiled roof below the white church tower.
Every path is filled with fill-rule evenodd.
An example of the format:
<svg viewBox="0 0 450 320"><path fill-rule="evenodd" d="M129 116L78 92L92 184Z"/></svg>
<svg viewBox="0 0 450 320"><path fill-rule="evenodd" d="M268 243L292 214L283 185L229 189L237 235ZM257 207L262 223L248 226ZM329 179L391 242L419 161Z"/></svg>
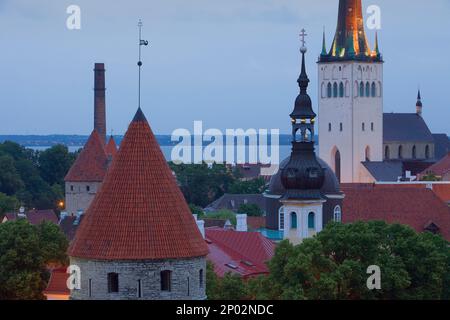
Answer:
<svg viewBox="0 0 450 320"><path fill-rule="evenodd" d="M409 225L418 232L430 223L450 241L450 208L429 189L401 185L343 185L345 193L342 220L381 220Z"/></svg>

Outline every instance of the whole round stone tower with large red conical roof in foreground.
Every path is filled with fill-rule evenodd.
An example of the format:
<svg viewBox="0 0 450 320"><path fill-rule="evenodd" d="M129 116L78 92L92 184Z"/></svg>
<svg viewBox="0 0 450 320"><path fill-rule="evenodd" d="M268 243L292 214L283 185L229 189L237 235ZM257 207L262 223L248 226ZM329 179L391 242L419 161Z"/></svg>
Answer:
<svg viewBox="0 0 450 320"><path fill-rule="evenodd" d="M207 245L141 109L69 249L72 299L206 299Z"/></svg>

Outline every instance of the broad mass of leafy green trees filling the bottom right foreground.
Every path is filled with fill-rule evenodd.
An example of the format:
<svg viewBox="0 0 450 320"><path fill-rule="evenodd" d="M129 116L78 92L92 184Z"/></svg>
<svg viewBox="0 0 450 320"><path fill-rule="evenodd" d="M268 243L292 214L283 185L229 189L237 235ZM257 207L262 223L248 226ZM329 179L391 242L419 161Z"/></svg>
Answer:
<svg viewBox="0 0 450 320"><path fill-rule="evenodd" d="M253 288L272 299L443 299L448 297L448 243L430 233L385 222L331 223L312 239L283 241L270 276ZM381 268L381 290L366 286L367 268ZM258 290L265 291L262 295Z"/></svg>

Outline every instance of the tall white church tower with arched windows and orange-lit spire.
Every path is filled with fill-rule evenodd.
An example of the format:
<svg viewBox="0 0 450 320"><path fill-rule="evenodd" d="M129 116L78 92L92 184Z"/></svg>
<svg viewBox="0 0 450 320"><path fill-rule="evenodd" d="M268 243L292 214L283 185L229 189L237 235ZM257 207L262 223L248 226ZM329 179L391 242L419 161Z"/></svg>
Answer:
<svg viewBox="0 0 450 320"><path fill-rule="evenodd" d="M369 47L361 0L340 0L336 35L319 70L319 155L343 183L371 182L362 162L383 161L383 59Z"/></svg>

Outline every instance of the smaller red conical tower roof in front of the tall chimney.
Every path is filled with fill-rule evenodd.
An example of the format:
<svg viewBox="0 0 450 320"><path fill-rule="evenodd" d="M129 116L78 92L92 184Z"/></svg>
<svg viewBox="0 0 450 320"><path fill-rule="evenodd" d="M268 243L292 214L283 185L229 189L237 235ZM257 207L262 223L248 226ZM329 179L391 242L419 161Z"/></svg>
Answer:
<svg viewBox="0 0 450 320"><path fill-rule="evenodd" d="M103 143L97 131L92 131L86 145L64 178L72 182L101 182L108 168Z"/></svg>

